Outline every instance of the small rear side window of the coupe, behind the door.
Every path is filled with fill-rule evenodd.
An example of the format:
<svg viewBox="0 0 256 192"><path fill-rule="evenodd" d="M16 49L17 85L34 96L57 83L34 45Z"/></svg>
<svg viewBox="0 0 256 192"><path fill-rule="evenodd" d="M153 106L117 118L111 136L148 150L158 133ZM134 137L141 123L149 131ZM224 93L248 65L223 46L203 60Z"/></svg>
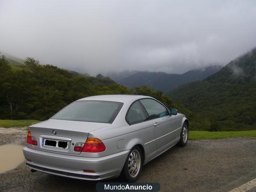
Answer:
<svg viewBox="0 0 256 192"><path fill-rule="evenodd" d="M135 124L139 122L145 121L146 116L143 112L143 109L140 106L139 101L135 102L131 105L131 108L129 109L126 120L129 124Z"/></svg>

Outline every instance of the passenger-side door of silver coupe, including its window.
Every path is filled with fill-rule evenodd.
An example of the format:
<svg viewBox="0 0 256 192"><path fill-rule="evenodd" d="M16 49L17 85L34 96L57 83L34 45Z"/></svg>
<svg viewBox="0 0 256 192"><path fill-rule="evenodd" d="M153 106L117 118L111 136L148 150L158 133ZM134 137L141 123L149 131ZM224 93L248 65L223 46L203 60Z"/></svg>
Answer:
<svg viewBox="0 0 256 192"><path fill-rule="evenodd" d="M168 110L154 99L141 99L141 104L152 119L156 135L157 151L161 151L176 141L177 120Z"/></svg>

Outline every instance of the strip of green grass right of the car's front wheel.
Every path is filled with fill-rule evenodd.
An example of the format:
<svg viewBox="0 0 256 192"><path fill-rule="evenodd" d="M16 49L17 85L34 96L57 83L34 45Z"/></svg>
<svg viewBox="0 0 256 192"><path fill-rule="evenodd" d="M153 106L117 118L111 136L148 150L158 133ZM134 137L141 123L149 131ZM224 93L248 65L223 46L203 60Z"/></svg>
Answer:
<svg viewBox="0 0 256 192"><path fill-rule="evenodd" d="M250 131L189 131L189 140L216 140L227 137L256 137L256 130Z"/></svg>

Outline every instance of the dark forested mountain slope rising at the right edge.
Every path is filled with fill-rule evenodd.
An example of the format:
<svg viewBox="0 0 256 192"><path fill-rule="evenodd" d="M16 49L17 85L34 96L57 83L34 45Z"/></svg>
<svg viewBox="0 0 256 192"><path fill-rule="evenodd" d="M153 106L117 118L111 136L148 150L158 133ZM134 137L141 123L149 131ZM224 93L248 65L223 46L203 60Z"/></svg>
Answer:
<svg viewBox="0 0 256 192"><path fill-rule="evenodd" d="M256 48L203 81L180 86L168 95L197 116L195 129L256 129Z"/></svg>

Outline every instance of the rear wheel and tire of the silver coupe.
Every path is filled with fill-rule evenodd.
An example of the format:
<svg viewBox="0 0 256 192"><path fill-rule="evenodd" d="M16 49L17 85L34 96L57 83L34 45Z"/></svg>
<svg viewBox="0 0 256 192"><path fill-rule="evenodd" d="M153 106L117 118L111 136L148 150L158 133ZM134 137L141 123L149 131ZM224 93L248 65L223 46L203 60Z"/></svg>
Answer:
<svg viewBox="0 0 256 192"><path fill-rule="evenodd" d="M135 182L140 177L143 166L143 156L140 148L135 146L131 149L125 160L120 178L126 182Z"/></svg>

